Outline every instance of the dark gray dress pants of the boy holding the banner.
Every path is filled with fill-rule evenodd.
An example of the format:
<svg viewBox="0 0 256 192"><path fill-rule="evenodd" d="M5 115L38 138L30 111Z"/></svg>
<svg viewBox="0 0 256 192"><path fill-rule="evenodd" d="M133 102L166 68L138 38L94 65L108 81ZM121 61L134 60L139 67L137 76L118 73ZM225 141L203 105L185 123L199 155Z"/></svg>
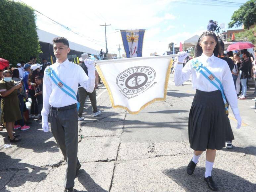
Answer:
<svg viewBox="0 0 256 192"><path fill-rule="evenodd" d="M65 111L51 109L50 123L52 134L59 145L67 162L64 187L71 188L75 185L76 170L79 165L77 159L78 147L78 121L77 108Z"/></svg>

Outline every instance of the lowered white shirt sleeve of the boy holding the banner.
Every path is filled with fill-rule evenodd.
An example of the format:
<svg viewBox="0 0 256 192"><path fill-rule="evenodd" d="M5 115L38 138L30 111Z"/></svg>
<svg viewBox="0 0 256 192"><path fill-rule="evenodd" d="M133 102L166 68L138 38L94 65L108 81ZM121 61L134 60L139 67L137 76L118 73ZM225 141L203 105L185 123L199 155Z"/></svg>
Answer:
<svg viewBox="0 0 256 192"><path fill-rule="evenodd" d="M41 112L42 120L48 119L48 115L50 113L49 99L50 99L51 93L52 93L52 86L51 86L50 77L47 76L46 70L45 70L44 80L43 80L43 109Z"/></svg>

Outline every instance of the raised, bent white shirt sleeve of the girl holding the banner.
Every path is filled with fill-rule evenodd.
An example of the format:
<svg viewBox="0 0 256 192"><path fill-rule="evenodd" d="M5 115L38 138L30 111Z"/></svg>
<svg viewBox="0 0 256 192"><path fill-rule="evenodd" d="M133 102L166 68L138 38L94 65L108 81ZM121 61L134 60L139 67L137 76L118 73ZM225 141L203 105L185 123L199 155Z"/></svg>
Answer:
<svg viewBox="0 0 256 192"><path fill-rule="evenodd" d="M182 85L187 81L191 76L191 67L190 61L184 66L182 64L176 63L175 73L174 73L174 82L176 86Z"/></svg>

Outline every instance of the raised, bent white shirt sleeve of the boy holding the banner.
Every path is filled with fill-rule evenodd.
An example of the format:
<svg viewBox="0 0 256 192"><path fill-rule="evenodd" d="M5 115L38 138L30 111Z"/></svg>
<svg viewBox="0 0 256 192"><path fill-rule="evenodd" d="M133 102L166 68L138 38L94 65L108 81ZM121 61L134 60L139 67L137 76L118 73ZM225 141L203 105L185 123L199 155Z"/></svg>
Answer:
<svg viewBox="0 0 256 192"><path fill-rule="evenodd" d="M95 87L95 68L88 69L88 76L86 73L79 67L79 84L81 87L85 88L85 90L89 93L92 93Z"/></svg>

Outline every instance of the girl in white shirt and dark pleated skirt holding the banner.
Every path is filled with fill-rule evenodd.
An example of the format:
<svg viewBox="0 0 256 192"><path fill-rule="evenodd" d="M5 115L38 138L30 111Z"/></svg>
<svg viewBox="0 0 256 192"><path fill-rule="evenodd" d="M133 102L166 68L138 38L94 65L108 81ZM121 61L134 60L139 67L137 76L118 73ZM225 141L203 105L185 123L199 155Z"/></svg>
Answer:
<svg viewBox="0 0 256 192"><path fill-rule="evenodd" d="M208 187L216 191L218 188L211 176L216 149L225 147L225 141L234 138L225 113L222 93L210 81L218 78L222 83L226 99L237 120L237 128L240 128L241 118L237 107L235 87L227 62L218 58L220 46L217 36L212 31L206 31L200 36L195 48L195 58L188 61L182 69L186 56L185 52L178 53L175 84L180 86L192 76L192 87L196 89L188 120L189 143L194 150L194 155L187 166L187 173L193 174L199 157L203 151L206 151L204 179ZM215 76L204 76L200 72L203 69L198 70L196 67L196 64L200 66L200 63Z"/></svg>

